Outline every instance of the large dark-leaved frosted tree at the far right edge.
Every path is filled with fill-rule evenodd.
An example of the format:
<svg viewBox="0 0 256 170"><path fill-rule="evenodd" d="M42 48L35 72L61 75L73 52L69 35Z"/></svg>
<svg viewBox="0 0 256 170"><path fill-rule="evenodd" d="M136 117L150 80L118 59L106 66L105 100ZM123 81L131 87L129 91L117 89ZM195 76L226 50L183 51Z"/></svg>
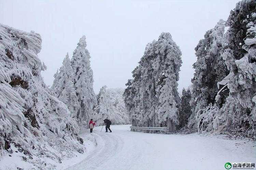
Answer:
<svg viewBox="0 0 256 170"><path fill-rule="evenodd" d="M229 75L219 84L229 88L225 128L233 133L255 136L256 132L256 2L242 0L227 20L227 48L222 53ZM223 124L224 124L223 123Z"/></svg>

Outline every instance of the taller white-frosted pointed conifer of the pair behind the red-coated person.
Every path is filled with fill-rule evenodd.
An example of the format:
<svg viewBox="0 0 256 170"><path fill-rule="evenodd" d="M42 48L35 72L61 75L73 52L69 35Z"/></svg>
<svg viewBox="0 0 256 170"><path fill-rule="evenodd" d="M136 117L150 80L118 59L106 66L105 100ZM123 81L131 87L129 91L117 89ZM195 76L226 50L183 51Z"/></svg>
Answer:
<svg viewBox="0 0 256 170"><path fill-rule="evenodd" d="M79 122L88 124L88 119L94 115L93 107L97 99L93 90L93 70L90 66L90 53L86 49L86 37L82 36L73 52L71 66L75 73L74 85L80 104L77 112Z"/></svg>

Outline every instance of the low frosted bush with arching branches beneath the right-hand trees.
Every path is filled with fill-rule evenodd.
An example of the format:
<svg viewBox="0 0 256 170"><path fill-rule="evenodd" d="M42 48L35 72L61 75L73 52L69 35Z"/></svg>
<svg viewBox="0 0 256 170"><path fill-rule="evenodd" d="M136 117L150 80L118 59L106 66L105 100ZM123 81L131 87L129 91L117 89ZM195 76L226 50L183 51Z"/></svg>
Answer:
<svg viewBox="0 0 256 170"><path fill-rule="evenodd" d="M227 98L223 107L216 104L200 109L195 121L198 132L214 132L252 137L254 132L250 128L248 110L243 108L236 99Z"/></svg>

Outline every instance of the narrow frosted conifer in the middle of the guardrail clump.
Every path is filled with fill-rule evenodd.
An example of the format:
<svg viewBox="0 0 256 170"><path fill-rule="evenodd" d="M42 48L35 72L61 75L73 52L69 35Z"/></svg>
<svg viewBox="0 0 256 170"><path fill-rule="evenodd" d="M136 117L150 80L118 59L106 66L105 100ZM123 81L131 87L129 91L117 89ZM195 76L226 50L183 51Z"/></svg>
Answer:
<svg viewBox="0 0 256 170"><path fill-rule="evenodd" d="M139 126L159 126L158 116L156 114L156 107L158 99L156 97L156 80L153 63L155 59L154 45L156 41L147 44L144 55L141 57L139 67L134 70L133 77L140 76L137 80L138 99L137 111L140 120Z"/></svg>

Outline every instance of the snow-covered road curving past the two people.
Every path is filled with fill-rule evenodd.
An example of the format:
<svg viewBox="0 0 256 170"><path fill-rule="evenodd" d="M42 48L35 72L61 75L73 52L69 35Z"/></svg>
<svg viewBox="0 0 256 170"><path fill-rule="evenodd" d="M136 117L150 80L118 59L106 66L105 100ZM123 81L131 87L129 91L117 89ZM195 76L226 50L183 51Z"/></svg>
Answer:
<svg viewBox="0 0 256 170"><path fill-rule="evenodd" d="M131 132L129 125L112 125L113 133L105 133L101 127L94 129L95 150L69 169L224 170L226 162L256 160L253 141Z"/></svg>

